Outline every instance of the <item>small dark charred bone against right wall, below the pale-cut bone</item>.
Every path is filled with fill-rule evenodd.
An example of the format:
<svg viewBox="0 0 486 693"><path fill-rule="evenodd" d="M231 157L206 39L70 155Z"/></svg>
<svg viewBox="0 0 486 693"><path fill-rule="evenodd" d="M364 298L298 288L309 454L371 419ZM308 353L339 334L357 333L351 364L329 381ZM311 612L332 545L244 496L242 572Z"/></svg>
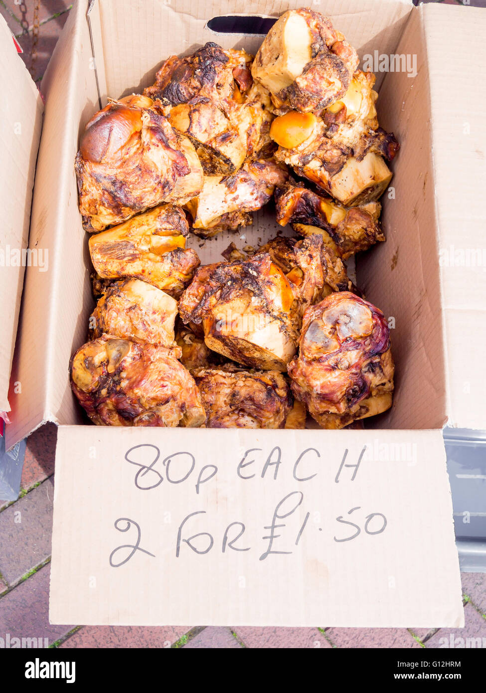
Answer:
<svg viewBox="0 0 486 693"><path fill-rule="evenodd" d="M324 242L342 259L385 240L379 202L347 208L293 183L277 188L275 202L281 226L292 224L302 236L322 234Z"/></svg>

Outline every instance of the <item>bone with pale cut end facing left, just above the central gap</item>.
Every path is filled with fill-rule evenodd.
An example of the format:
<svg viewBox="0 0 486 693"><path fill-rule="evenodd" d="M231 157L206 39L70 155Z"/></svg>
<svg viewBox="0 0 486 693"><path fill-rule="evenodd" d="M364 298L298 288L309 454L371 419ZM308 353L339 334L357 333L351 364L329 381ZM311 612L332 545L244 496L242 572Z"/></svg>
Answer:
<svg viewBox="0 0 486 693"><path fill-rule="evenodd" d="M250 212L261 209L287 178L286 168L263 159L247 161L232 175L205 176L200 195L186 205L194 233L210 238L250 225Z"/></svg>

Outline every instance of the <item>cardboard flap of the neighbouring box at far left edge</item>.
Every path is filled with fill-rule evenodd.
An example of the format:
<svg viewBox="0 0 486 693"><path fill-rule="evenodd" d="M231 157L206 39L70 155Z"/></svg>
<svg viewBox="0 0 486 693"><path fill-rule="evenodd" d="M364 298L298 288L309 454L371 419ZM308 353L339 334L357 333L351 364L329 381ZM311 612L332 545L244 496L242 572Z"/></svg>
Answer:
<svg viewBox="0 0 486 693"><path fill-rule="evenodd" d="M8 383L17 334L24 271L42 272L37 247L28 248L35 160L42 129L42 98L0 17L2 231L0 237L0 412L10 412ZM43 249L42 249L43 250ZM44 255L40 258L44 265ZM17 387L18 389L18 387Z"/></svg>

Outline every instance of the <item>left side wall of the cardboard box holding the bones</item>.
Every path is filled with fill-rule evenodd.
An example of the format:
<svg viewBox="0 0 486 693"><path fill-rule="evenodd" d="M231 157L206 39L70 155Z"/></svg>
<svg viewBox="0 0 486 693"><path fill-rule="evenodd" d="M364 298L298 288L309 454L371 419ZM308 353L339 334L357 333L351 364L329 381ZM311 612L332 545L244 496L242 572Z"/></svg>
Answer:
<svg viewBox="0 0 486 693"><path fill-rule="evenodd" d="M49 272L26 274L21 341L10 380L12 426L8 446L44 421L80 421L65 374L69 353L85 340L82 312L89 311L92 300L89 253L79 225L73 168L80 129L98 108L86 8L80 2L69 13L42 80L46 109L33 195L31 245L49 248L50 267ZM74 262L74 258L83 258L83 262ZM20 381L21 394L13 392L14 380Z"/></svg>

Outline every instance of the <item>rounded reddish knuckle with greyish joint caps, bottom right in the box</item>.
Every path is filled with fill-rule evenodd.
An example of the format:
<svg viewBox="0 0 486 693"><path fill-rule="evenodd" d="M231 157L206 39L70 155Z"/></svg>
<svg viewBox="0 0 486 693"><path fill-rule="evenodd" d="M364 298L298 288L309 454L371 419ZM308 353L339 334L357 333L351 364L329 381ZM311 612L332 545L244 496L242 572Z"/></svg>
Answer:
<svg viewBox="0 0 486 693"><path fill-rule="evenodd" d="M293 394L322 428L343 428L392 405L394 365L383 313L350 292L304 313Z"/></svg>

